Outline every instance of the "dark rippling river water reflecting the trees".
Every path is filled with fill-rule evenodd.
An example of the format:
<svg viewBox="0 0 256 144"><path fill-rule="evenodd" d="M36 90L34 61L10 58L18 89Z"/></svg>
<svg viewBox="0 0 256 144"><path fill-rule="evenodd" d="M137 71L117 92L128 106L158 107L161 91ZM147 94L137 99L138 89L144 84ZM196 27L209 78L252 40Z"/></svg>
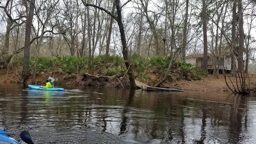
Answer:
<svg viewBox="0 0 256 144"><path fill-rule="evenodd" d="M21 144L255 144L256 98L222 92L146 92L0 83L0 128Z"/></svg>

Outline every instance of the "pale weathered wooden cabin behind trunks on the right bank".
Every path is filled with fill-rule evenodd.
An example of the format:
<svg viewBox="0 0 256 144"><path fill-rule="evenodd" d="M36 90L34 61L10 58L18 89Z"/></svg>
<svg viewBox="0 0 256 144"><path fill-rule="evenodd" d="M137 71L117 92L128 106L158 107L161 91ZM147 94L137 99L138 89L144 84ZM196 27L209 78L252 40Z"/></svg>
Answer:
<svg viewBox="0 0 256 144"><path fill-rule="evenodd" d="M217 58L216 56L214 56L212 53L208 53L207 55L207 59L208 59L208 72L209 73L213 73L213 66L214 66L214 62L217 63ZM223 73L224 71L226 71L227 73L230 73L231 71L231 55L222 55L219 57L220 60L220 73ZM238 62L236 61L236 66L238 66ZM186 56L186 63L191 63L193 65L195 65L196 67L203 69L204 68L204 54L195 54L195 55L188 55ZM218 63L217 63L218 66Z"/></svg>

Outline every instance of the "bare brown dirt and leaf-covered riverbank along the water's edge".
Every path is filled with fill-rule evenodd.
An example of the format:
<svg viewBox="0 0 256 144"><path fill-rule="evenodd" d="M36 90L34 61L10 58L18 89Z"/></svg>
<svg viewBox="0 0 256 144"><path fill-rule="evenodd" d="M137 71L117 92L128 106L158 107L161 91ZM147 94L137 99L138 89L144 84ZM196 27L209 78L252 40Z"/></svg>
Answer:
<svg viewBox="0 0 256 144"><path fill-rule="evenodd" d="M9 83L17 83L19 78L17 75L20 75L18 70L12 71L9 69L0 69L0 82L9 82ZM83 85L86 82L83 81L83 74L66 74L66 73L51 73L51 72L41 72L36 76L35 84L43 85L47 82L48 77L55 78L56 84L67 84L67 85ZM256 75L250 75L250 87L256 87ZM231 78L235 80L236 78ZM107 84L108 83L108 84ZM119 87L126 87L128 83L128 78L122 78L122 81L119 81L115 78L115 81L104 82L104 85L110 86L111 83L115 83L113 85L119 84ZM227 81L228 84L231 84L230 81ZM32 84L32 76L27 81L27 84ZM103 85L103 84L102 84ZM230 89L227 87L224 76L219 75L219 78L215 78L213 75L208 75L201 80L196 81L186 81L186 80L178 80L175 82L166 81L164 83L165 86L175 86L181 89L186 90L201 90L201 91L219 91L219 92L228 92ZM231 86L231 85L230 85Z"/></svg>

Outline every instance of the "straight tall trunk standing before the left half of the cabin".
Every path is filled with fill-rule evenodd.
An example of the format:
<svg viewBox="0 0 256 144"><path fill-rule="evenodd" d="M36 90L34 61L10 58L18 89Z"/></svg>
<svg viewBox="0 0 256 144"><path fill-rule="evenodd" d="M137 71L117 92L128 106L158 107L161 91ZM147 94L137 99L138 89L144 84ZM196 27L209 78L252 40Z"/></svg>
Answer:
<svg viewBox="0 0 256 144"><path fill-rule="evenodd" d="M207 15L206 15L206 0L202 0L203 3L203 11L202 11L202 19L203 19L203 37L204 37L204 71L207 72L208 60L207 60Z"/></svg>

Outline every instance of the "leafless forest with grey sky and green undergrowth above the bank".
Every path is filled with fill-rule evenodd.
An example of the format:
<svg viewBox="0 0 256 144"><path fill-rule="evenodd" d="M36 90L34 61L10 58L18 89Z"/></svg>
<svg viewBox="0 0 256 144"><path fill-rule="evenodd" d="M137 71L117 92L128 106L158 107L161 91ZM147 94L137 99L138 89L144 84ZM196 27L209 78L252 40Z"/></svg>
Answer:
<svg viewBox="0 0 256 144"><path fill-rule="evenodd" d="M248 73L256 67L255 5L255 0L0 0L1 66L22 83L29 78L35 83L46 71L113 76L112 69L118 81L128 75L134 88L135 78L160 86L206 75L208 53L214 54L218 78L219 57L228 53L231 63L238 61L232 77L237 72L239 78L225 74L227 86L248 92ZM204 71L185 63L187 55L199 53Z"/></svg>

